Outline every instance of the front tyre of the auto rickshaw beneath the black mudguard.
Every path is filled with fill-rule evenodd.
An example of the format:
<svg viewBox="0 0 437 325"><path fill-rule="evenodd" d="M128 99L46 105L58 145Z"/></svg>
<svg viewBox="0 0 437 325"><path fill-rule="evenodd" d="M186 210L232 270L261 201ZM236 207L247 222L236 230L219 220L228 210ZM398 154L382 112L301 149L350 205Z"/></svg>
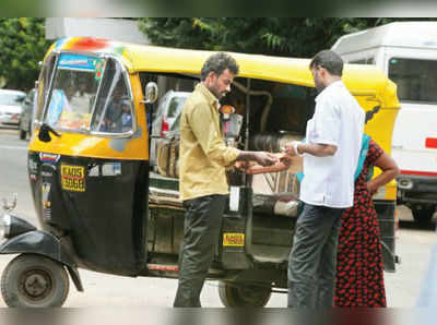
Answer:
<svg viewBox="0 0 437 325"><path fill-rule="evenodd" d="M21 254L1 276L1 293L11 308L61 306L69 289L63 265L43 255Z"/></svg>

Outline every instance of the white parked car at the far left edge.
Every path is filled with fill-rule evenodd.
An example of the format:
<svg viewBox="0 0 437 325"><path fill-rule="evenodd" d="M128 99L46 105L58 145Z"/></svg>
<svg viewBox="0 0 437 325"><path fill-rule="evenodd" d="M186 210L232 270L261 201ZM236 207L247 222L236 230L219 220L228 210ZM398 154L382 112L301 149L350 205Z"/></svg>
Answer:
<svg viewBox="0 0 437 325"><path fill-rule="evenodd" d="M25 97L20 91L0 89L0 124L20 124L21 103Z"/></svg>

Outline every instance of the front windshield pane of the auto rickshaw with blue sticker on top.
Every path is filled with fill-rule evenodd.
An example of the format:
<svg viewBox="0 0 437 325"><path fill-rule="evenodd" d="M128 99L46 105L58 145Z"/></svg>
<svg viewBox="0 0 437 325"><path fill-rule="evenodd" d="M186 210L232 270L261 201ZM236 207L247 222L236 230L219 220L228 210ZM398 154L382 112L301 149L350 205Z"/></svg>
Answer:
<svg viewBox="0 0 437 325"><path fill-rule="evenodd" d="M97 58L61 55L45 122L61 129L88 129L103 65Z"/></svg>

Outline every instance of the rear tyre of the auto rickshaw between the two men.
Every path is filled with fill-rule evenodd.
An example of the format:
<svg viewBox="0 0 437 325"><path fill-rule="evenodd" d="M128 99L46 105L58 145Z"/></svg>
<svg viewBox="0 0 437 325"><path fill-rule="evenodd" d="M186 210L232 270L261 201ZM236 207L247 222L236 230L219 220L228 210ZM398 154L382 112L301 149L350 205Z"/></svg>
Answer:
<svg viewBox="0 0 437 325"><path fill-rule="evenodd" d="M261 308L271 294L271 288L265 285L218 282L220 300L229 308Z"/></svg>

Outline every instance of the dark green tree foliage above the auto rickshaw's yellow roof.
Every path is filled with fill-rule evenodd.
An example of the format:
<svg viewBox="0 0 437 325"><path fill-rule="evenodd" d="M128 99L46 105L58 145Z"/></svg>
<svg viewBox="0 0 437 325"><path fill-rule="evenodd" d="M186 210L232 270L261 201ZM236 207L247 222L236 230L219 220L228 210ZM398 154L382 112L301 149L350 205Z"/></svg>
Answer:
<svg viewBox="0 0 437 325"><path fill-rule="evenodd" d="M308 58L344 34L405 20L429 19L170 17L140 27L162 46Z"/></svg>

